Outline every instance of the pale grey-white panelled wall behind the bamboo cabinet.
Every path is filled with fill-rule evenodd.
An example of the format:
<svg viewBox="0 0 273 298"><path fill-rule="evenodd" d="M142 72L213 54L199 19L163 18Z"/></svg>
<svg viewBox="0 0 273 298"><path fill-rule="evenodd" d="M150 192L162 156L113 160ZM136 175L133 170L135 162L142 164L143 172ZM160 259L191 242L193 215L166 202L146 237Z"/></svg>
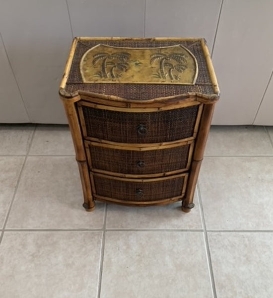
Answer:
<svg viewBox="0 0 273 298"><path fill-rule="evenodd" d="M205 37L212 52L213 124L273 125L272 10L272 0L2 0L0 123L67 123L58 86L72 36L181 36Z"/></svg>

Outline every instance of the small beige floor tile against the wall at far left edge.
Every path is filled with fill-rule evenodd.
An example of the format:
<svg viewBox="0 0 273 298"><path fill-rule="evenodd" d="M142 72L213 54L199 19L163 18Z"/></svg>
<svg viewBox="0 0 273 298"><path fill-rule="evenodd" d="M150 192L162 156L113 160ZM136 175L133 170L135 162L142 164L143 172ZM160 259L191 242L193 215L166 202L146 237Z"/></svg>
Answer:
<svg viewBox="0 0 273 298"><path fill-rule="evenodd" d="M0 154L26 154L34 125L0 125Z"/></svg>

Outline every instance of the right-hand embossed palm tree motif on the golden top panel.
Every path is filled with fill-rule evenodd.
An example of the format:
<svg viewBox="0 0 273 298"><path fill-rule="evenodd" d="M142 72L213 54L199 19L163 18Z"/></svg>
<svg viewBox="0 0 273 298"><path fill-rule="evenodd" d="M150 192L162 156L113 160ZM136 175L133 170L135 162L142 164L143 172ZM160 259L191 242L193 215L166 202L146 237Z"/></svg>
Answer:
<svg viewBox="0 0 273 298"><path fill-rule="evenodd" d="M179 73L181 74L187 69L188 61L186 55L181 53L155 53L151 55L150 64L153 64L158 60L160 60L159 72L153 74L153 77L167 79L167 76L169 76L171 80L180 79ZM175 63L171 63L171 61L174 61ZM166 68L168 68L168 70L166 70ZM178 74L173 74L173 71L176 71Z"/></svg>

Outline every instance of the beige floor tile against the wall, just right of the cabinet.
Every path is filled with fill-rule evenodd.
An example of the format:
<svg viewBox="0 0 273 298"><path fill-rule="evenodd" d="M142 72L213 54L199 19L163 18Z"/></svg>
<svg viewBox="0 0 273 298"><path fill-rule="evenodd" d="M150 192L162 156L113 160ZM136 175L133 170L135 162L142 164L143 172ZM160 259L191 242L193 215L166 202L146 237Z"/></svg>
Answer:
<svg viewBox="0 0 273 298"><path fill-rule="evenodd" d="M213 126L205 155L273 155L264 127Z"/></svg>

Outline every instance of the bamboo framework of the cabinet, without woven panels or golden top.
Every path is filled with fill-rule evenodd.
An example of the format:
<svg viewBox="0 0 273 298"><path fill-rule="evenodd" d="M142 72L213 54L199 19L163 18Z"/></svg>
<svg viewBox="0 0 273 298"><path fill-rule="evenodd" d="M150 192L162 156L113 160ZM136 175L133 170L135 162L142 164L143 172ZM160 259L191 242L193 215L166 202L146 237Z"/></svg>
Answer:
<svg viewBox="0 0 273 298"><path fill-rule="evenodd" d="M207 70L210 76L211 85L214 90L214 94L203 94L199 92L187 92L184 94L166 96L166 97L157 97L152 99L147 99L144 101L126 99L114 95L105 95L98 94L94 92L87 91L75 91L67 92L67 80L69 76L69 71L72 65L73 56L78 42L89 41L89 40L98 40L98 41L109 41L109 40L143 40L143 38L121 38L121 37L76 37L74 38L71 49L68 56L68 61L65 68L65 73L63 75L61 84L60 84L60 98L63 101L66 114L68 117L68 123L72 134L73 144L76 153L76 160L79 167L79 173L83 189L84 197L84 208L87 211L92 211L95 207L94 200L114 202L122 205L131 205L131 206L151 206L151 205L165 205L172 202L177 202L182 200L182 210L189 212L193 207L193 196L195 192L195 186L200 171L205 143L209 132L211 117L214 110L214 104L219 99L219 87L216 79L216 75L213 70L212 62L209 56L209 52L205 43L205 40L202 38L145 38L149 41L199 41L205 56L205 62ZM183 108L186 106L192 106L199 104L199 111L197 116L197 121L194 128L194 135L190 138L185 138L181 140L176 140L172 142L161 142L154 144L120 144L108 140L101 140L97 138L88 137L86 135L85 123L83 121L83 114L81 110L82 105L89 105L95 108L108 109L113 111L121 112L158 112L166 111L176 108ZM83 141L85 139L85 141ZM99 144L98 144L99 143ZM122 174L122 173L111 173L108 171L102 171L99 169L94 169L90 165L91 156L88 153L88 150L85 150L86 144L91 144L92 146L101 146L106 148L113 149L135 149L136 151L145 151L153 149L167 149L182 144L191 144L190 154L187 164L186 171L180 169L178 171L171 171L166 173L152 174L149 175L131 175L131 174ZM89 146L89 145L88 145ZM91 172L90 172L91 170ZM176 177L184 176L184 183L182 187L181 196L152 201L152 202L131 202L117 200L113 198L105 198L96 194L94 176L101 175L104 177L111 177L111 179L117 179L120 181L142 181L142 182L151 182L151 181L160 181L163 179L171 179ZM160 175L160 176L157 176Z"/></svg>

